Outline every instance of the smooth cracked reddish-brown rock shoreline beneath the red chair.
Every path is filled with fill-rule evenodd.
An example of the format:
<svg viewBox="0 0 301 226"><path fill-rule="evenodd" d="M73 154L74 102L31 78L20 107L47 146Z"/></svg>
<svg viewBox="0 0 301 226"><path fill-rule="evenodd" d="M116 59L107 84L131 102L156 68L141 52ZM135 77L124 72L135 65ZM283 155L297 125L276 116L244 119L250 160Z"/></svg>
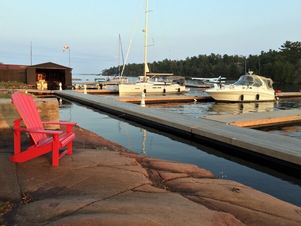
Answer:
<svg viewBox="0 0 301 226"><path fill-rule="evenodd" d="M12 163L2 132L4 225L300 225L301 208L195 165L138 155L74 127L71 156ZM25 138L24 138L25 139Z"/></svg>

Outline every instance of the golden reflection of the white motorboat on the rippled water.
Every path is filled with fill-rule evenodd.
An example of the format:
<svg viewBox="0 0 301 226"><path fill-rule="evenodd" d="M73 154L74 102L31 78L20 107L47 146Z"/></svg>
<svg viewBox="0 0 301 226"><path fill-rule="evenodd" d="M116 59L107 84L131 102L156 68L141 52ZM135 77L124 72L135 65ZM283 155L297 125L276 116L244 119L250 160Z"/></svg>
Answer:
<svg viewBox="0 0 301 226"><path fill-rule="evenodd" d="M216 102L208 108L208 112L214 112L214 114L242 114L248 112L264 112L274 110L273 101L264 102ZM210 114L212 115L212 114Z"/></svg>

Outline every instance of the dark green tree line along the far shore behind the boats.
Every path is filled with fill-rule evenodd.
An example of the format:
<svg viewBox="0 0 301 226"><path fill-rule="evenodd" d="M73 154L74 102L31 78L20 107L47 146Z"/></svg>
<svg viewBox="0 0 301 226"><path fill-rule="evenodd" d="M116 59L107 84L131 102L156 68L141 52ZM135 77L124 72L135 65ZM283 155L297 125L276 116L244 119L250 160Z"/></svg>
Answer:
<svg viewBox="0 0 301 226"><path fill-rule="evenodd" d="M122 68L122 66L121 66ZM227 79L237 79L245 71L271 78L274 82L301 83L301 42L286 41L278 51L261 51L260 55L198 55L185 60L154 61L148 63L148 68L157 73L173 73L174 75L214 78L218 76ZM118 73L118 67L104 69L102 74ZM125 65L125 76L143 74L143 64Z"/></svg>

